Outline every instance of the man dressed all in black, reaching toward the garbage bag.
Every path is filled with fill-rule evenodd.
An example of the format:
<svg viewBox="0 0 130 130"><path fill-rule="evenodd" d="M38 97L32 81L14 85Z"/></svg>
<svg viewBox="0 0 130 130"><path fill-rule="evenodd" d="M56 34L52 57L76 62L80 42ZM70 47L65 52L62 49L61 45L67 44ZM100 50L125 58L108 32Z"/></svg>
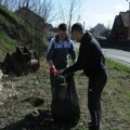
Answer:
<svg viewBox="0 0 130 130"><path fill-rule="evenodd" d="M101 94L107 81L105 70L105 60L101 47L90 32L83 32L82 25L77 23L72 27L72 35L80 43L79 56L77 62L66 68L62 74L83 69L84 75L89 77L88 88L88 107L91 115L89 130L100 130L101 119Z"/></svg>

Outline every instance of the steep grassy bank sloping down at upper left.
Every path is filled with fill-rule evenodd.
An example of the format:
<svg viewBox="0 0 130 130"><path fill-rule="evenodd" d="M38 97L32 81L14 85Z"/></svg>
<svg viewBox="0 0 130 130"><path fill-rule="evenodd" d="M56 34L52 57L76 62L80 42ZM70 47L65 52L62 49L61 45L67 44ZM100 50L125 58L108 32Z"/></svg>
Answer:
<svg viewBox="0 0 130 130"><path fill-rule="evenodd" d="M0 58L4 58L2 53L13 52L16 46L28 46L37 50L39 54L47 49L48 41L41 30L32 28L16 13L0 5ZM4 54L5 54L4 53Z"/></svg>

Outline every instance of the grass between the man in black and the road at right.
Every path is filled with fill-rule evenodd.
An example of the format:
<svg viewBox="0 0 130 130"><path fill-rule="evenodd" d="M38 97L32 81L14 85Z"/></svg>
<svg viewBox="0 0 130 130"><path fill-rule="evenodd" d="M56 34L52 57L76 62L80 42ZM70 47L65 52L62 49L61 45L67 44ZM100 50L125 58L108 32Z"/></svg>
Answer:
<svg viewBox="0 0 130 130"><path fill-rule="evenodd" d="M106 58L106 67L108 82L102 99L103 121L109 122L110 130L127 130L130 123L130 67L109 58Z"/></svg>

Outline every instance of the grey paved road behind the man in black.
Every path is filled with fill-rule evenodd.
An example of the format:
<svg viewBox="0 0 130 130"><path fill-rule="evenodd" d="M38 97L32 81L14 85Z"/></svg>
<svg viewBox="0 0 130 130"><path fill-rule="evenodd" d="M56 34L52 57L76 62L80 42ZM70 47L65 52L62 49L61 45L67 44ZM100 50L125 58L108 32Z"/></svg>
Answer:
<svg viewBox="0 0 130 130"><path fill-rule="evenodd" d="M116 60L127 66L130 66L130 52L117 49L102 49L106 57Z"/></svg>

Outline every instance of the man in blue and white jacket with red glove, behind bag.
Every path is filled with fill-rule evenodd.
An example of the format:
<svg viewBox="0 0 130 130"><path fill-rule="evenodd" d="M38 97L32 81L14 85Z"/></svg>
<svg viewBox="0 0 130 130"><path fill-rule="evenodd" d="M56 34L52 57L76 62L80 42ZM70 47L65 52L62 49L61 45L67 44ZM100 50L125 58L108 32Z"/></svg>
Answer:
<svg viewBox="0 0 130 130"><path fill-rule="evenodd" d="M69 66L68 55L72 56L74 62L76 61L74 43L68 36L67 25L63 23L58 26L57 35L51 39L47 51L47 61L50 66L52 95L55 86L54 76L58 70L65 69Z"/></svg>

